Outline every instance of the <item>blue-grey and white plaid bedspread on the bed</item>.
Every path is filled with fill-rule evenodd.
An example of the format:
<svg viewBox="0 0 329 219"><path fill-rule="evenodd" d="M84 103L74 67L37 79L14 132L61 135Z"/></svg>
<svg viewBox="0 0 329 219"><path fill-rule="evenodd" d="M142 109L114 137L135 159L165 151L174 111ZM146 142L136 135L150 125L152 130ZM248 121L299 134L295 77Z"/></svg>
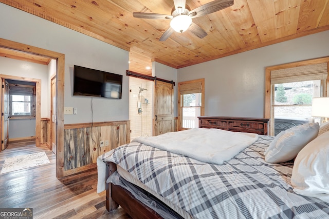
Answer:
<svg viewBox="0 0 329 219"><path fill-rule="evenodd" d="M293 191L292 162L264 161L264 150L272 139L260 135L257 142L223 165L136 142L101 158L120 165L196 218L329 218L328 203Z"/></svg>

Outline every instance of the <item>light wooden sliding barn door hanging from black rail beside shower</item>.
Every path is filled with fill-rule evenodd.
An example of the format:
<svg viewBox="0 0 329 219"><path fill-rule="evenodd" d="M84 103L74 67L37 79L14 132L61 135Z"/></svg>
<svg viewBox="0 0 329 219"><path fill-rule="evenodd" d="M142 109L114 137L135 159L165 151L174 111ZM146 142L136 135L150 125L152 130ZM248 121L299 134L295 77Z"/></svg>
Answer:
<svg viewBox="0 0 329 219"><path fill-rule="evenodd" d="M174 89L166 82L155 82L153 135L174 131Z"/></svg>

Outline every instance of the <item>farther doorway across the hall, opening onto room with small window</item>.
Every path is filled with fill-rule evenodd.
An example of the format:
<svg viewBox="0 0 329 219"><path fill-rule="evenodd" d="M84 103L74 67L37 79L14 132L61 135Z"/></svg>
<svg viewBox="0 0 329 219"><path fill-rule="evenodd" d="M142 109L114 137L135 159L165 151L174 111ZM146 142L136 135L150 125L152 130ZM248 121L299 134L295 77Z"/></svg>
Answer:
<svg viewBox="0 0 329 219"><path fill-rule="evenodd" d="M3 146L2 150L5 149L5 144L8 145L10 138L16 141L22 141L26 138L27 141L35 141L37 146L40 146L40 136L41 136L41 79L27 78L13 75L0 74L0 78L3 82L8 83L8 88L10 91L6 94L8 96L8 101L6 98L2 100L2 106L8 107L8 113L6 116L2 116L1 124L3 130L7 130L7 133L2 133ZM20 88L20 89L19 89ZM6 92L3 92L2 95L5 95ZM18 98L24 98L26 101L15 101L13 96ZM28 103L29 99L30 103ZM33 101L34 100L34 101ZM8 103L6 103L8 102ZM18 106L22 105L22 106ZM13 108L15 106L15 108ZM20 108L21 107L21 108ZM27 109L30 107L30 109ZM21 109L21 110L19 110ZM20 115L23 113L28 113L31 111L30 115ZM3 109L3 112L6 110ZM20 112L19 112L20 111ZM5 115L6 113L4 113ZM6 118L10 118L7 119ZM9 125L11 124L11 125ZM39 124L39 125L38 125ZM26 126L24 128L24 126ZM17 127L15 129L12 129ZM34 131L30 131L34 127ZM22 129L22 130L20 130ZM16 133L13 133L16 132ZM17 134L26 133L25 137L19 136ZM33 136L31 138L31 136ZM7 138L7 143L5 139Z"/></svg>

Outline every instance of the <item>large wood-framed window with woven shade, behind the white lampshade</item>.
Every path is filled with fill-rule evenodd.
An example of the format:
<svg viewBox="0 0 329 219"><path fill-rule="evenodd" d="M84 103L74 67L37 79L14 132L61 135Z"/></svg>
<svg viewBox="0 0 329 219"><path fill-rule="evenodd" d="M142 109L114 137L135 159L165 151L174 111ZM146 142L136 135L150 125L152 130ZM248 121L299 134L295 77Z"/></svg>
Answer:
<svg viewBox="0 0 329 219"><path fill-rule="evenodd" d="M293 126L319 122L312 116L312 98L326 96L328 58L266 68L265 117L270 135Z"/></svg>

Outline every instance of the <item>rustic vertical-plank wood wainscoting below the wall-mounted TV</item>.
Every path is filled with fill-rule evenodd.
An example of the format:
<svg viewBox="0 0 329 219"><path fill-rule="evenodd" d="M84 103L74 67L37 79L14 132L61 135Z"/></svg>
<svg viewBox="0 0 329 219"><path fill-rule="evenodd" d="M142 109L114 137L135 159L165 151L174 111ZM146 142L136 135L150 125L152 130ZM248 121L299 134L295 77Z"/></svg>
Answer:
<svg viewBox="0 0 329 219"><path fill-rule="evenodd" d="M64 125L64 171L93 168L98 156L129 142L130 121Z"/></svg>

